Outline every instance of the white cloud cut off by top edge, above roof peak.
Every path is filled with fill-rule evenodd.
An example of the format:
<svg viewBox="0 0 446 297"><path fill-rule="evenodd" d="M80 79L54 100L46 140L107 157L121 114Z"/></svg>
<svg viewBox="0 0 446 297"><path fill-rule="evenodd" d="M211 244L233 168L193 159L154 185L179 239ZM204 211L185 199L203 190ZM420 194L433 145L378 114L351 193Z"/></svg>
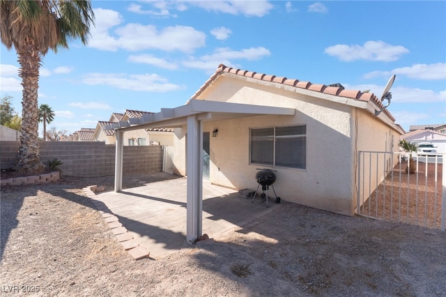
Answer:
<svg viewBox="0 0 446 297"><path fill-rule="evenodd" d="M274 7L269 1L190 1L190 5L199 6L208 11L229 13L231 15L246 15L263 17Z"/></svg>

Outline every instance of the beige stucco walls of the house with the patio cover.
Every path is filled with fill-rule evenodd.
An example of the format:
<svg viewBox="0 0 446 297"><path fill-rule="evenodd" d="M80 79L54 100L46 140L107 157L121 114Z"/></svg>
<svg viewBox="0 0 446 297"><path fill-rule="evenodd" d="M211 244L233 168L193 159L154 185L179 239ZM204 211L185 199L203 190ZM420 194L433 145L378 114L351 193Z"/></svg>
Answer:
<svg viewBox="0 0 446 297"><path fill-rule="evenodd" d="M210 182L235 189L256 190L259 168L277 170L277 195L285 201L352 215L356 206L357 151L396 146L400 133L367 111L367 102L356 102L308 90L222 74L197 100L291 107L294 116L251 116L210 121ZM306 169L249 164L249 129L289 125L307 127ZM217 137L212 137L217 128ZM174 167L186 175L185 131L176 128ZM272 191L271 191L272 192Z"/></svg>

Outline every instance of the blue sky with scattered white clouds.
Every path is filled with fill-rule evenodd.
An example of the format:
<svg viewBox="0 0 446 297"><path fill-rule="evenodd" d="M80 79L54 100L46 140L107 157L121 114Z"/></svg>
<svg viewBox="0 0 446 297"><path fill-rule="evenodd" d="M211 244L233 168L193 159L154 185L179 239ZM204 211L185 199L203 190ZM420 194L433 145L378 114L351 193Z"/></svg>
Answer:
<svg viewBox="0 0 446 297"><path fill-rule="evenodd" d="M220 63L380 97L409 125L446 123L446 1L92 1L89 45L48 52L39 105L49 128L95 128L112 112L178 107ZM15 50L1 45L0 96L22 112ZM386 102L385 102L386 103ZM41 133L41 129L40 129Z"/></svg>

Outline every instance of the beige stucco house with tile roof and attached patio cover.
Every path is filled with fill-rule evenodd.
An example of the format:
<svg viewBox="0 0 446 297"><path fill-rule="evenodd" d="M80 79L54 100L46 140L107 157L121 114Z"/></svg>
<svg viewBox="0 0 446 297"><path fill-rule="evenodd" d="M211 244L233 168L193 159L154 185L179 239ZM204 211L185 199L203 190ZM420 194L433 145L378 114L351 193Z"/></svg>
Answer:
<svg viewBox="0 0 446 297"><path fill-rule="evenodd" d="M120 138L141 128L175 128L174 167L187 175L190 242L201 235L203 177L216 185L255 190L256 172L272 169L282 200L352 215L358 151L394 151L404 133L394 121L373 93L221 64L186 105L110 128ZM119 191L119 158L115 178Z"/></svg>

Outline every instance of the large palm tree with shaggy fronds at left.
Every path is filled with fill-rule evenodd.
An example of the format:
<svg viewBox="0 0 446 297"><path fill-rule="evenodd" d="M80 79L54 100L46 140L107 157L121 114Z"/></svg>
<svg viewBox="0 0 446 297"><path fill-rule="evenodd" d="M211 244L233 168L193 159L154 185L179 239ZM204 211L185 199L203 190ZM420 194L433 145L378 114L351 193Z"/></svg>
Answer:
<svg viewBox="0 0 446 297"><path fill-rule="evenodd" d="M1 43L14 47L22 77L22 137L15 170L43 172L38 145L38 80L42 56L68 48L68 40L86 44L94 23L90 0L0 0Z"/></svg>

